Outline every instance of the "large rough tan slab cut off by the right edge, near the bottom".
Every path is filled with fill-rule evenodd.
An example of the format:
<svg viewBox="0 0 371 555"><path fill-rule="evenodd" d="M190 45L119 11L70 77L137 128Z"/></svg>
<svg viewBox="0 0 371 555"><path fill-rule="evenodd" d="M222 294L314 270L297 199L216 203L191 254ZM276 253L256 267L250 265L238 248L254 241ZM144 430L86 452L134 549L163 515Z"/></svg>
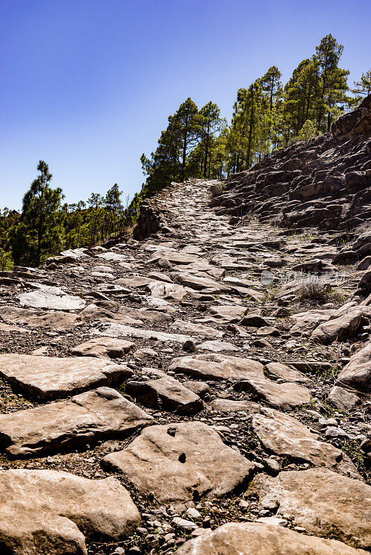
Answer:
<svg viewBox="0 0 371 555"><path fill-rule="evenodd" d="M288 470L277 477L258 475L252 491L259 500L278 502L279 513L317 536L370 550L371 486L327 468Z"/></svg>

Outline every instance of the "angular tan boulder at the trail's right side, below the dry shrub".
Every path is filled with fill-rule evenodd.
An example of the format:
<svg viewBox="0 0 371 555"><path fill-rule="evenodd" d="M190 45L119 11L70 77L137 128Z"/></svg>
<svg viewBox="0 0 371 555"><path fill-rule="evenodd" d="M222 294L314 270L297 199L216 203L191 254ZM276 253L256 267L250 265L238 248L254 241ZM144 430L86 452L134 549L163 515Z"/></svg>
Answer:
<svg viewBox="0 0 371 555"><path fill-rule="evenodd" d="M361 324L361 318L361 310L354 310L349 312L349 314L340 316L340 318L324 322L315 328L311 334L311 339L320 343L332 343L336 340L344 341L345 339L351 339Z"/></svg>

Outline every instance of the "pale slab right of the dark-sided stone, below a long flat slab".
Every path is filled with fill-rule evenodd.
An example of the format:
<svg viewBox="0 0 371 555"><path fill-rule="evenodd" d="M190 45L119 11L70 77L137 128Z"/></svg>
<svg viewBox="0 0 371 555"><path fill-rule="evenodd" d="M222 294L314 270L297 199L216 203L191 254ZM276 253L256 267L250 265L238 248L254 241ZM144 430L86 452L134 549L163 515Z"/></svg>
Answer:
<svg viewBox="0 0 371 555"><path fill-rule="evenodd" d="M235 388L249 391L257 398L265 400L265 402L271 404L272 407L277 407L278 409L291 409L311 401L311 392L309 389L295 382L277 384L265 377L252 377L238 382Z"/></svg>

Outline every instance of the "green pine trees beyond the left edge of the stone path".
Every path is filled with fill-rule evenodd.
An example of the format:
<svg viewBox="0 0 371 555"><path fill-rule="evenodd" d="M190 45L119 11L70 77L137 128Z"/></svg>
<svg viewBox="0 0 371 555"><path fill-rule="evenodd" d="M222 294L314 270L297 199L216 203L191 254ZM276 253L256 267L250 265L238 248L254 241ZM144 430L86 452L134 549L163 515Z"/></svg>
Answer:
<svg viewBox="0 0 371 555"><path fill-rule="evenodd" d="M51 189L52 175L40 160L40 172L23 198L22 213L0 212L0 269L14 264L38 266L65 248L92 247L119 237L138 216L140 197L123 205L117 183L106 196L92 193L85 203L62 205L62 189ZM10 254L11 253L11 254Z"/></svg>

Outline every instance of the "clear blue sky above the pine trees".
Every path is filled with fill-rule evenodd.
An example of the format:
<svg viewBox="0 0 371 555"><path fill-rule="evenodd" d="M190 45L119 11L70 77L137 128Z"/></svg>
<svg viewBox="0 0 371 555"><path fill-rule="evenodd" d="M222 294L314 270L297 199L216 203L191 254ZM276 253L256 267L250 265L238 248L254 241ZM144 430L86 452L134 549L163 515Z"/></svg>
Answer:
<svg viewBox="0 0 371 555"><path fill-rule="evenodd" d="M370 69L371 0L0 0L0 207L19 208L39 159L66 200L119 183L188 96L224 117L239 87L283 80L327 33L349 83Z"/></svg>

